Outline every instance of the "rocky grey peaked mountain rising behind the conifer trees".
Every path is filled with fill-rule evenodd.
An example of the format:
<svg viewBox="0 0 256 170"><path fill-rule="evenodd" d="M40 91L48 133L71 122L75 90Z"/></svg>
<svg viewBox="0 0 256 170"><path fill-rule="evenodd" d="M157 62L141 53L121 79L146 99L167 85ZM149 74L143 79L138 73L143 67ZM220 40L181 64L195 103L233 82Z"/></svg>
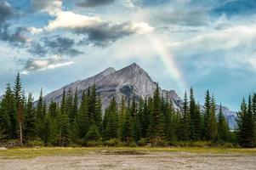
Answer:
<svg viewBox="0 0 256 170"><path fill-rule="evenodd" d="M110 67L105 71L100 72L94 77L88 77L85 80L79 80L72 82L63 88L55 90L54 92L47 94L43 97L44 101L49 104L51 100L60 102L62 99L63 90L71 89L72 92L78 90L79 98L82 98L82 91L87 90L88 87L96 85L96 92L100 94L102 99L102 109L107 107L110 100L115 97L117 103L121 102L122 96L126 100L131 99L134 95L137 99L142 97L146 99L152 96L156 89L156 82L154 82L146 71L144 71L139 65L133 63L119 71ZM179 110L182 99L176 94L174 90L161 89L161 94L168 96L174 104L174 108ZM235 114L224 108L225 116L229 119L230 127L234 127Z"/></svg>

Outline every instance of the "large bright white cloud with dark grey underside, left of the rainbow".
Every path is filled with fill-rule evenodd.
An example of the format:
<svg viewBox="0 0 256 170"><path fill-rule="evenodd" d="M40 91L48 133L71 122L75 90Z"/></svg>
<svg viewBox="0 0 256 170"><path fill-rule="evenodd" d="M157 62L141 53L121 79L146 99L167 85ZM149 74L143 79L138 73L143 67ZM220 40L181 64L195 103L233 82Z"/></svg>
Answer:
<svg viewBox="0 0 256 170"><path fill-rule="evenodd" d="M121 24L111 24L101 20L100 16L87 16L75 14L71 11L61 11L56 14L54 20L48 22L48 26L42 28L30 28L31 32L41 33L66 29L85 36L80 44L94 44L104 47L122 37L134 34L146 34L154 30L145 22L128 21Z"/></svg>

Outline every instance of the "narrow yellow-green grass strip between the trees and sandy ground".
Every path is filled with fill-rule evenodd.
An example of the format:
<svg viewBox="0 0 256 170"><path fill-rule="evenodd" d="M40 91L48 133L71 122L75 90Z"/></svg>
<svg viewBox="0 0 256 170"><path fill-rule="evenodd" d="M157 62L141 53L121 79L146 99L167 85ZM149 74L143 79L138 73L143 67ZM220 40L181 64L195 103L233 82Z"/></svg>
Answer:
<svg viewBox="0 0 256 170"><path fill-rule="evenodd" d="M213 154L252 154L256 155L256 149L223 149L223 148L200 148L200 147L174 147L174 148L153 148L153 147L87 147L87 148L14 148L0 150L0 159L29 159L38 156L83 156L92 153L96 154L117 154L117 155L141 155L150 152L191 152L191 153L213 153Z"/></svg>

